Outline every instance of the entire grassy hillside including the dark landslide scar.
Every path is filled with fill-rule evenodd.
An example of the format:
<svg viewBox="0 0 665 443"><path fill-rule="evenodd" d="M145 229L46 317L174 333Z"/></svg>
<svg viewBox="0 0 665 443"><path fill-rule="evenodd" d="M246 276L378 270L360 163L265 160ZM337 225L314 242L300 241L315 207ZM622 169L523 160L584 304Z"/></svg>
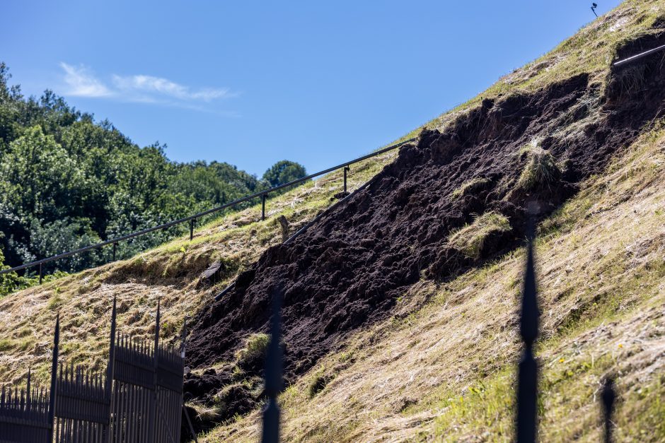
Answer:
<svg viewBox="0 0 665 443"><path fill-rule="evenodd" d="M662 0L626 1L410 134L418 143L393 163L367 162L354 187L376 177L347 201L331 207L339 175L280 197L294 228L330 208L292 244L251 208L193 242L0 300L0 375L43 372L57 309L65 357L95 365L112 297L121 327L139 337L162 297L167 334L195 316L188 398L199 418L223 422L206 438L252 441L267 293L283 285L289 441L504 441L524 207L537 201L543 441L597 439L594 394L610 371L620 437L665 439L665 76L661 55L611 69L665 42L664 16ZM202 287L214 260L225 271Z"/></svg>

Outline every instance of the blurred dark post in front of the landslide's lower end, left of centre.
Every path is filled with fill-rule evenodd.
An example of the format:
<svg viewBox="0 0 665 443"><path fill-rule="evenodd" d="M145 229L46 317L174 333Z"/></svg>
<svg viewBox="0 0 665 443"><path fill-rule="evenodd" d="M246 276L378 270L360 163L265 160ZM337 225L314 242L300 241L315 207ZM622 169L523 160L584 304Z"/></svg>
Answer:
<svg viewBox="0 0 665 443"><path fill-rule="evenodd" d="M265 394L268 397L263 411L262 443L279 442L279 405L277 395L282 391L282 289L272 291L272 325L265 367Z"/></svg>

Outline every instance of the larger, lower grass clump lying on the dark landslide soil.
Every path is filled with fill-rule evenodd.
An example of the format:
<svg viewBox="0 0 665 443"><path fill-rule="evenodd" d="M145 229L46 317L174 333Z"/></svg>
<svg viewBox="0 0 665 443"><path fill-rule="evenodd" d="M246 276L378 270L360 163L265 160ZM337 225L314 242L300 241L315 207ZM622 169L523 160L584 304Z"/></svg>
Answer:
<svg viewBox="0 0 665 443"><path fill-rule="evenodd" d="M510 230L508 218L495 211L489 211L477 216L470 225L453 232L448 237L447 243L468 258L477 260L490 236Z"/></svg>

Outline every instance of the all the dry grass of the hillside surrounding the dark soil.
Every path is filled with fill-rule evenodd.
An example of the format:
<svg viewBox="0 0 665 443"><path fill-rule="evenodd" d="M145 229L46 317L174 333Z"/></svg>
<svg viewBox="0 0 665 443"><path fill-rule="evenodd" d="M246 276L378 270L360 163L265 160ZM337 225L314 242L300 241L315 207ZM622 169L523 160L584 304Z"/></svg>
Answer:
<svg viewBox="0 0 665 443"><path fill-rule="evenodd" d="M594 133L585 131L606 117L609 105L603 100L616 100L647 84L643 65L618 72L611 70L611 61L657 41L665 31L663 17L663 0L626 1L553 52L425 126L450 131L473 117L486 100L504 103L584 78L591 93L577 100L572 112L542 123L560 140L593 139ZM543 441L598 441L597 394L608 373L618 382L620 441L665 440L664 147L665 128L657 114L630 146L612 153L607 165L577 184L572 199L540 223L536 259L542 327L536 353L542 370ZM588 154L593 160L593 153ZM528 159L520 160L523 166L549 161L538 143L510 155L511 161ZM394 153L386 154L353 168L351 188L394 159ZM563 159L559 161L564 170ZM501 183L509 196L511 187L539 177L531 166L524 171L533 174L515 171L514 182ZM454 189L448 183L441 195L451 201L467 199L483 189L482 179ZM64 358L103 365L114 296L120 328L137 337L149 336L161 297L164 335L175 336L185 315L209 306L219 290L281 242L277 211L287 216L294 232L331 206L339 190L340 174L335 173L270 201L271 216L265 222L258 221L260 208L248 208L197 230L191 242L188 237L175 240L133 259L0 299L1 379L17 381L30 365L45 379L57 311L62 314ZM484 240L507 232L514 221L499 213L464 216L469 223L441 239L443 247L462 257L459 263L465 266L458 273L447 278L422 273L386 318L338 336L330 352L291 379L281 397L287 441L511 439L524 250L511 249L484 261ZM221 280L202 286L199 273L212 261L224 264ZM215 367L226 370L229 364ZM255 382L236 381L260 390ZM223 392L211 394L216 403L197 405L207 418L229 401ZM202 437L210 442L255 441L259 421L257 409Z"/></svg>

